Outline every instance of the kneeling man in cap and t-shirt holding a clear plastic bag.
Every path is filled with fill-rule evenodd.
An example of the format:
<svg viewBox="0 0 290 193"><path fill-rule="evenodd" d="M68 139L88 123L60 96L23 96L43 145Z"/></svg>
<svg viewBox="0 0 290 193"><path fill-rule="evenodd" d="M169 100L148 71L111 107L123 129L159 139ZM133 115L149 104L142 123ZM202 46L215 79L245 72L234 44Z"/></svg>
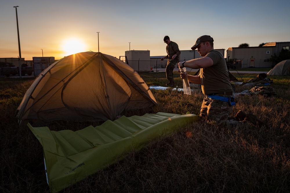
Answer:
<svg viewBox="0 0 290 193"><path fill-rule="evenodd" d="M187 76L190 82L201 84L202 93L206 96L202 102L200 117L207 121L226 121L232 113L234 103L224 56L213 48L213 38L208 35L197 38L191 49L196 48L200 56L204 57L180 62L178 66L200 69L199 76L184 73L180 73L180 76Z"/></svg>

